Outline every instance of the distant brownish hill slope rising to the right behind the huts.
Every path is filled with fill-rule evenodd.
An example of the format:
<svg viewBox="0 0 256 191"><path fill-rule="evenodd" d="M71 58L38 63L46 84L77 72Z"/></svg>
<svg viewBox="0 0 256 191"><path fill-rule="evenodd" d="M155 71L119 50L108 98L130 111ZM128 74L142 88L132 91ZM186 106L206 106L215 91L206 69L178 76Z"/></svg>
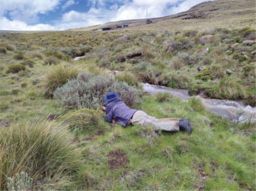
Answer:
<svg viewBox="0 0 256 191"><path fill-rule="evenodd" d="M255 26L255 6L254 0L208 1L195 5L183 13L160 18L150 18L153 22L152 24L146 24L146 19L122 20L71 30L90 31L103 27L116 27L117 24L124 23L129 23L129 27L125 28L125 30L141 29L141 27L143 27L143 30L158 30L158 28L186 30L206 27L233 28L234 26Z"/></svg>

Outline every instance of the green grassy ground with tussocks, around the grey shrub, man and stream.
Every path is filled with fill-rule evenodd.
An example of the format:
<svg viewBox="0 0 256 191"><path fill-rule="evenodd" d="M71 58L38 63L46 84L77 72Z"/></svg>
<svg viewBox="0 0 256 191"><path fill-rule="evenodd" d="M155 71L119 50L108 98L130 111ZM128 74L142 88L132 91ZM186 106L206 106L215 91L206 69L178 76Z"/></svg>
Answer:
<svg viewBox="0 0 256 191"><path fill-rule="evenodd" d="M182 20L180 24L188 22ZM144 30L6 34L3 40L22 50L33 67L6 73L22 61L13 58L19 54L15 49L1 54L0 120L11 122L10 127L0 128L1 189L6 189L7 177L24 171L33 178L35 189L255 190L254 124L234 124L205 112L195 97L184 103L167 93L141 93L134 106L158 118L188 117L191 135L157 134L152 127L122 128L105 122L100 111L69 111L54 98L45 98L45 92L52 95L56 87L76 77L80 70L102 75L108 69L108 73L117 70L117 80L136 88L138 82L149 82L189 89L195 95L204 91L213 98L245 99L255 106L254 58L250 55L255 45L242 44L251 38L253 29L234 27L181 27L177 32L168 27L156 31L148 25ZM159 27L162 29L165 27ZM198 43L200 36L207 34L215 36L212 42ZM124 35L127 40L118 40ZM230 42L224 43L225 38ZM165 40L171 40L174 47L168 53ZM234 41L239 45L230 48ZM80 44L86 46L80 49ZM202 55L200 51L206 47L209 52ZM80 51L86 52L85 59L72 61ZM241 51L248 58L242 58ZM142 55L127 57L137 52ZM122 56L126 59L119 62L117 58ZM59 64L61 60L67 63ZM207 70L200 72L197 67L202 65ZM227 69L234 74L226 74ZM198 73L200 78L196 79ZM60 117L46 121L50 114ZM129 162L126 167L111 170L109 152L119 150Z"/></svg>

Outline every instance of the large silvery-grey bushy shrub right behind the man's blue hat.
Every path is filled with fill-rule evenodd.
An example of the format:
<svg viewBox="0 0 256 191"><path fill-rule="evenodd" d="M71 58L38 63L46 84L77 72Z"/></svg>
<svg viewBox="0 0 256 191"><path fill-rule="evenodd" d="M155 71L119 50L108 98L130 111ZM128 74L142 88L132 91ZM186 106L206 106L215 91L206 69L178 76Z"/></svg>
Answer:
<svg viewBox="0 0 256 191"><path fill-rule="evenodd" d="M125 82L117 82L108 76L91 76L84 73L57 88L54 97L62 106L100 109L104 104L103 98L109 91L119 93L121 99L129 106L137 100L136 89Z"/></svg>

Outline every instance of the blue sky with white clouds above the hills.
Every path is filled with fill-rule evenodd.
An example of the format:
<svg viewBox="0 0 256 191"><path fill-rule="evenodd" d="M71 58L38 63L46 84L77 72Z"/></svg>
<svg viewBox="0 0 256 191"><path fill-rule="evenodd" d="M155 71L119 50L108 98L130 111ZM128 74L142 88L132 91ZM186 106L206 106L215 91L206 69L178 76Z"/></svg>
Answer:
<svg viewBox="0 0 256 191"><path fill-rule="evenodd" d="M66 30L173 15L207 0L0 0L0 30Z"/></svg>

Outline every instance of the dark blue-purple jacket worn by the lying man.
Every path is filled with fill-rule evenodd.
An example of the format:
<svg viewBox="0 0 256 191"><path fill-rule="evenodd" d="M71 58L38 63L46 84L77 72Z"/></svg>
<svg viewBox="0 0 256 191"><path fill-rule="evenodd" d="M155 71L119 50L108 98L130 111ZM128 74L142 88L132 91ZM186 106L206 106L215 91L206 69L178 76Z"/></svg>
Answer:
<svg viewBox="0 0 256 191"><path fill-rule="evenodd" d="M117 98L107 104L105 120L111 123L114 119L118 124L125 127L136 111Z"/></svg>

